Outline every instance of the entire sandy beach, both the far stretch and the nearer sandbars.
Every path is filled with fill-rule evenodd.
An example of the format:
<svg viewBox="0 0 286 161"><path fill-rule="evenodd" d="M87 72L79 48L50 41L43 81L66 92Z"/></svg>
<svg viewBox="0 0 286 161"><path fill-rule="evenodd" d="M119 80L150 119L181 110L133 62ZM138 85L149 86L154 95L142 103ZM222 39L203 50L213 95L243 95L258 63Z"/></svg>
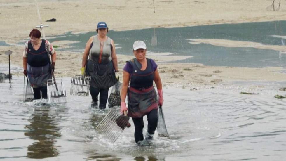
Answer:
<svg viewBox="0 0 286 161"><path fill-rule="evenodd" d="M281 1L280 9L273 11L271 0L180 0L153 1L91 1L91 0L38 0L43 21L56 18L56 22L43 22L49 25L46 36L81 33L95 30L98 21L105 21L109 30L133 30L151 27L185 27L223 23L264 22L285 20L286 1ZM276 3L278 6L278 3ZM28 39L29 32L39 19L33 0L2 0L0 4L0 41L12 46L0 46L0 63L8 64L4 51L11 50L11 64L22 66L23 45L15 45ZM54 42L64 47L69 42ZM226 47L254 47L285 52L285 46L262 45L246 41L190 39L190 43L207 43ZM149 55L148 55L149 54ZM191 55L191 54L190 54ZM117 55L120 73L126 60L132 56ZM158 63L164 86L195 87L215 85L235 80L285 81L286 73L282 67L245 68L215 67L191 63L166 63L170 60L189 58L188 56L168 56L160 53L147 53ZM57 77L71 77L80 74L82 53L72 51L57 52ZM12 73L22 75L22 72Z"/></svg>

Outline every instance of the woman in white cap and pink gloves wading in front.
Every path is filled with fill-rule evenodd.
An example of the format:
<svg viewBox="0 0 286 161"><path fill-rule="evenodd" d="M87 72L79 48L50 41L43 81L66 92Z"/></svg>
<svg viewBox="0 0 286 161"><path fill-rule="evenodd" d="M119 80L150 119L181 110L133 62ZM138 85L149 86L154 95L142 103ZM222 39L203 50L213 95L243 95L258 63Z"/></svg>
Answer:
<svg viewBox="0 0 286 161"><path fill-rule="evenodd" d="M157 128L158 105L163 105L162 82L154 60L145 57L147 51L144 41L135 41L133 53L135 58L127 61L123 67L123 83L121 90L121 109L123 113L128 110L127 115L132 117L135 127L135 142L144 140L143 116L147 115L148 129L145 139L153 139ZM158 96L153 86L156 84ZM130 82L130 86L128 87ZM125 98L128 96L128 108Z"/></svg>

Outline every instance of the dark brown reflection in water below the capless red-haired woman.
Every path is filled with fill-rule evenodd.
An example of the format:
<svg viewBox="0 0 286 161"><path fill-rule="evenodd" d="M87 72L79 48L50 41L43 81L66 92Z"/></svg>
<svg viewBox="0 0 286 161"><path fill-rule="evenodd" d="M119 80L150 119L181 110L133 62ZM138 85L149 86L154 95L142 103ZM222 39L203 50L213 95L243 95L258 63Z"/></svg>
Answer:
<svg viewBox="0 0 286 161"><path fill-rule="evenodd" d="M28 146L27 157L42 159L55 157L59 154L54 145L56 137L60 137L60 128L55 122L56 115L49 115L50 108L35 108L28 120L31 124L26 125L25 136L36 140Z"/></svg>

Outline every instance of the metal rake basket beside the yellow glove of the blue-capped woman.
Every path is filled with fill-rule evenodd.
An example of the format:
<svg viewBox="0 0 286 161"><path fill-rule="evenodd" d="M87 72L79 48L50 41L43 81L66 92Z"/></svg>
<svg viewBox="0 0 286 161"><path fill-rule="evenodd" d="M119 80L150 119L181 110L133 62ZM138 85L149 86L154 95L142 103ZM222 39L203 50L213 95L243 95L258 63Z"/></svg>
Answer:
<svg viewBox="0 0 286 161"><path fill-rule="evenodd" d="M70 94L74 96L86 96L89 95L91 77L82 75L75 75L71 77L71 89Z"/></svg>

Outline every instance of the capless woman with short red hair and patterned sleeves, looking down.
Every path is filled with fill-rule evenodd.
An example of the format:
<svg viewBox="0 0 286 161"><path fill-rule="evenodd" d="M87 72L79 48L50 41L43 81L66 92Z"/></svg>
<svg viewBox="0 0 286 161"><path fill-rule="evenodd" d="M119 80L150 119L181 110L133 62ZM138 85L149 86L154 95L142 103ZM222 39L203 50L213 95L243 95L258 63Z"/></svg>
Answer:
<svg viewBox="0 0 286 161"><path fill-rule="evenodd" d="M39 30L33 29L29 37L31 39L24 46L23 73L29 78L34 91L34 99L47 99L47 79L52 78L50 68L55 70L56 52L49 41L41 39Z"/></svg>

